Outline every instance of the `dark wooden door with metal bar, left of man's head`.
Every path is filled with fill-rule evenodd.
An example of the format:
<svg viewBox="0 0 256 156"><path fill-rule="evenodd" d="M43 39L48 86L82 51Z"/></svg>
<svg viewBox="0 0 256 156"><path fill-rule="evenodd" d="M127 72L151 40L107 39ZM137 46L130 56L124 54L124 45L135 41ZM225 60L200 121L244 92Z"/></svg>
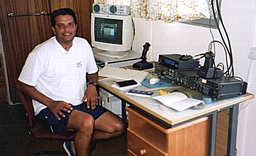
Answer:
<svg viewBox="0 0 256 156"><path fill-rule="evenodd" d="M13 102L19 99L15 94L15 83L28 53L39 43L49 39L52 32L49 15L9 17L8 13L24 15L41 11L50 13L49 0L0 1L1 35Z"/></svg>

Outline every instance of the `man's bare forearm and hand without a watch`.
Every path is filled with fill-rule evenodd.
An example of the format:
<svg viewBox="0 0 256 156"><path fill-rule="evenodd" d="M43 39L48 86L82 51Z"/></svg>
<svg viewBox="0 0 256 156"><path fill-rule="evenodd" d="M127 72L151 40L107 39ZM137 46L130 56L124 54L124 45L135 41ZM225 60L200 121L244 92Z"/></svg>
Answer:
<svg viewBox="0 0 256 156"><path fill-rule="evenodd" d="M27 96L50 108L50 110L55 115L55 117L58 118L58 120L60 120L59 115L61 115L61 117L65 117L65 115L61 111L66 111L70 113L70 110L72 110L70 104L65 103L64 101L54 101L50 97L47 97L38 90L36 90L36 88L31 85L27 85L26 83L18 81L17 88L21 92L24 92Z"/></svg>

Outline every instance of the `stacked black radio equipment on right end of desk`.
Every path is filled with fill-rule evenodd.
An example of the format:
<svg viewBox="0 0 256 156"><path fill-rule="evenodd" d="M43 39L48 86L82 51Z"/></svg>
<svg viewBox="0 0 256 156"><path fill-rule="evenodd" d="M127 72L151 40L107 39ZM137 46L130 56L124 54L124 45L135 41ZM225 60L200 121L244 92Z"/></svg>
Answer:
<svg viewBox="0 0 256 156"><path fill-rule="evenodd" d="M246 94L247 83L223 76L220 69L213 69L211 53L207 54L205 64L201 67L198 60L188 55L159 55L155 73L172 83L216 99Z"/></svg>

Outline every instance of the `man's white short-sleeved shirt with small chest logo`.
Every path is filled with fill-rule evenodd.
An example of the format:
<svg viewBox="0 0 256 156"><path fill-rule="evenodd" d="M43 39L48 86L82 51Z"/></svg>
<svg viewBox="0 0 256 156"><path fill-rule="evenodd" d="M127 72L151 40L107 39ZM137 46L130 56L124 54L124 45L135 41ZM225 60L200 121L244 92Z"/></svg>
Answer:
<svg viewBox="0 0 256 156"><path fill-rule="evenodd" d="M98 71L91 46L74 38L68 52L55 37L36 46L26 59L18 80L56 101L81 104L86 90L86 73ZM35 115L46 108L33 100Z"/></svg>

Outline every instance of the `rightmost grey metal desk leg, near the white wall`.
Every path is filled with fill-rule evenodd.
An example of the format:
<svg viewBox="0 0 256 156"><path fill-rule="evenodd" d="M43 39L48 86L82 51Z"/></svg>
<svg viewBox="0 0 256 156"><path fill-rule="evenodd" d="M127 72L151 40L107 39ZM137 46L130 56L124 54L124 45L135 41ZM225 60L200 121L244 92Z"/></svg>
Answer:
<svg viewBox="0 0 256 156"><path fill-rule="evenodd" d="M228 125L228 149L227 155L236 155L236 133L237 133L237 118L238 118L238 104L234 104L230 108L229 125Z"/></svg>

